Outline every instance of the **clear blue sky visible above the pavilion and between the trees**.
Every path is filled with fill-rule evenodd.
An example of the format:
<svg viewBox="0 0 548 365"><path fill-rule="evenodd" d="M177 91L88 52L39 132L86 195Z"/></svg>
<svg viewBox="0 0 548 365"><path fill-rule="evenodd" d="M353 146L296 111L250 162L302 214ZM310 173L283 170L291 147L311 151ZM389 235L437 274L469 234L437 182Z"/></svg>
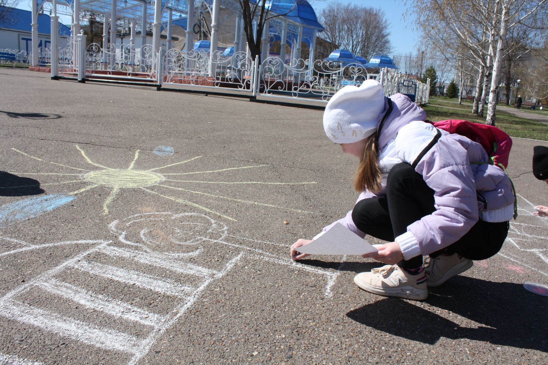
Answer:
<svg viewBox="0 0 548 365"><path fill-rule="evenodd" d="M334 0L309 0L316 13L326 7L327 4ZM384 11L386 19L390 22L390 42L392 43L394 53L416 52L416 43L418 36L413 32L413 26L408 20L402 20L403 13L406 12L406 6L403 0L341 0L341 2L350 2L356 5L364 5L366 7L380 8ZM30 10L31 3L28 0L21 0L17 5L19 9ZM60 16L63 24L70 26L70 17ZM411 38L411 39L410 39Z"/></svg>

